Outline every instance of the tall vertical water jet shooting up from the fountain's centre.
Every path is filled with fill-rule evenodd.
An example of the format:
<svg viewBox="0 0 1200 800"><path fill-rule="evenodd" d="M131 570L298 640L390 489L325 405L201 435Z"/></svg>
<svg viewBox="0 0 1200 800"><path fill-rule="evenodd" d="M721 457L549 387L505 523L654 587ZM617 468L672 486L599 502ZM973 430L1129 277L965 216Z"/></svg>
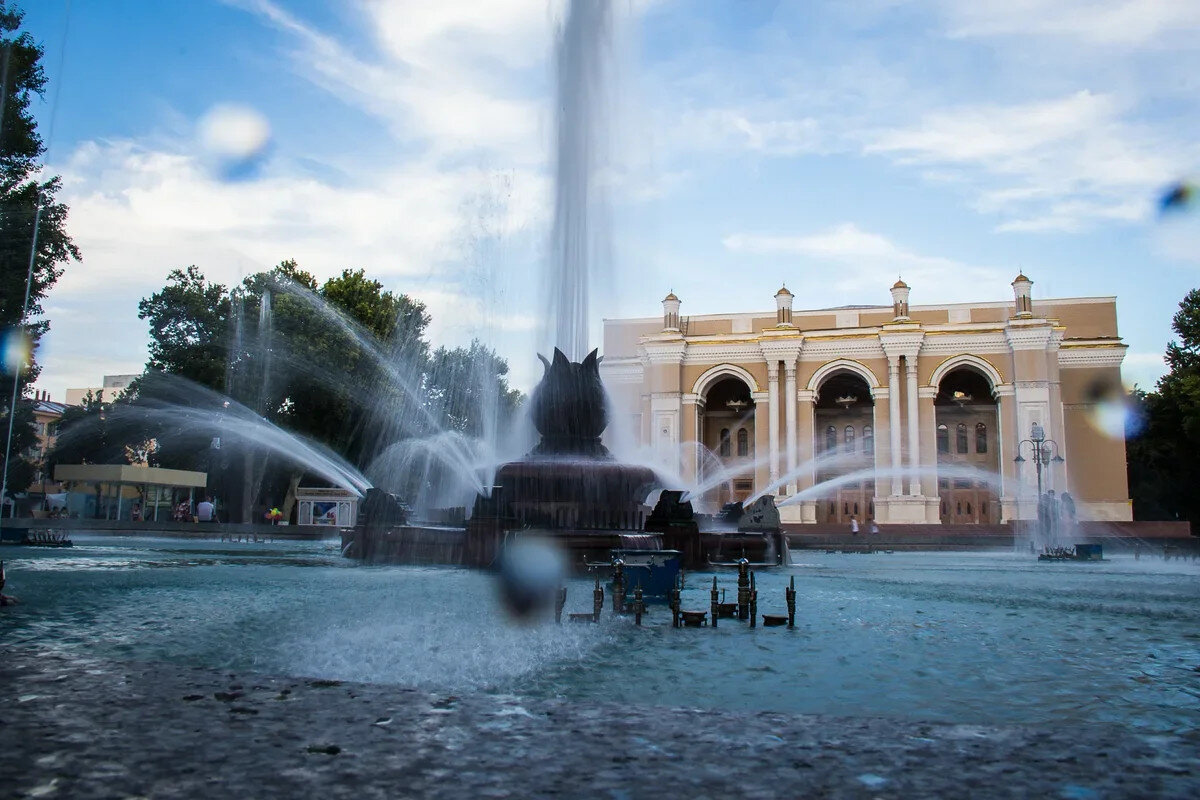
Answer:
<svg viewBox="0 0 1200 800"><path fill-rule="evenodd" d="M608 0L571 0L556 48L557 143L554 227L546 263L546 353L571 361L587 355L590 276L610 255L608 207L599 180L606 162L608 78L612 74Z"/></svg>

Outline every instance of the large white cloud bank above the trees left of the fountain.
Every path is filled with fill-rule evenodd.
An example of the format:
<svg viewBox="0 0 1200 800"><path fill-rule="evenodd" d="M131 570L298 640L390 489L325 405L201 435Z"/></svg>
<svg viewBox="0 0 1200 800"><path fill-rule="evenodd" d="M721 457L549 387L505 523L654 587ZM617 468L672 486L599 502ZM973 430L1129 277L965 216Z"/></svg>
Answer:
<svg viewBox="0 0 1200 800"><path fill-rule="evenodd" d="M469 341L475 330L464 319L496 331L530 324L503 303L484 313L480 293L496 288L484 287L481 276L496 265L469 251L484 236L520 243L521 231L542 224L540 175L510 173L503 197L480 210L472 200L493 175L478 168L414 161L349 187L280 169L229 182L190 144L163 151L91 142L55 170L64 176L68 229L84 254L46 303L52 335L38 356L41 384L55 395L104 373L139 371L146 331L133 321L137 301L161 288L170 269L188 264L226 284L284 258L318 278L362 267L386 288L427 302L439 344ZM473 217L487 230L470 230Z"/></svg>

